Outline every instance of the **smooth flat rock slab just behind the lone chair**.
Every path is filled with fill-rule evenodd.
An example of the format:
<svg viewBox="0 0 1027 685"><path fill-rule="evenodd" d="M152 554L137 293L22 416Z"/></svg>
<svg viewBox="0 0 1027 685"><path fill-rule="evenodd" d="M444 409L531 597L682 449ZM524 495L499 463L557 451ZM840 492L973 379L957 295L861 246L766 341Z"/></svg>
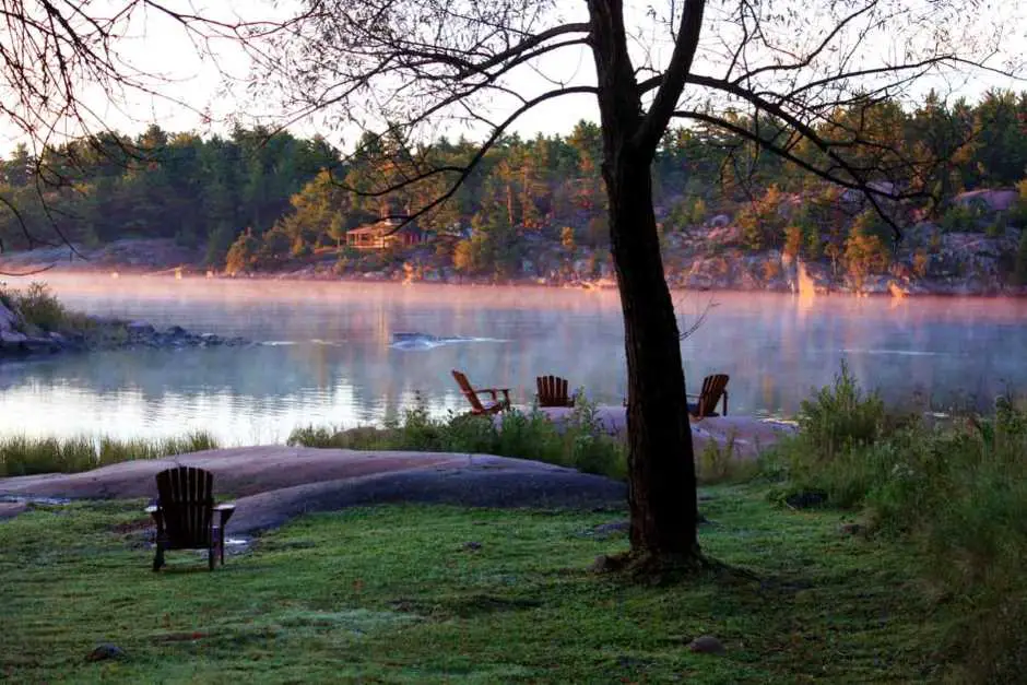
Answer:
<svg viewBox="0 0 1027 685"><path fill-rule="evenodd" d="M627 497L627 486L618 481L523 459L306 447L208 450L84 473L0 479L0 495L153 498L154 476L175 465L211 471L215 493L236 498L236 512L226 531L229 535L274 528L302 513L361 505L416 501L467 507L623 508Z"/></svg>

